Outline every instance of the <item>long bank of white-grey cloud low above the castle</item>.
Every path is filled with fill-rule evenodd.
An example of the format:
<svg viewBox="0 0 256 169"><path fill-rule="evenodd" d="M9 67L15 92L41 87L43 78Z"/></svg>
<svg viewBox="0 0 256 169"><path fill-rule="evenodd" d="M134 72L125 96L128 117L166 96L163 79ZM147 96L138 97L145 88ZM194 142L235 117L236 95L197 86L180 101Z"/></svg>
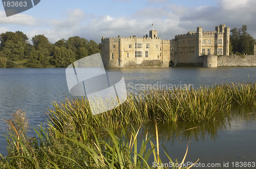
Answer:
<svg viewBox="0 0 256 169"><path fill-rule="evenodd" d="M156 2L156 1L155 1ZM232 1L233 2L233 1ZM101 15L94 16L84 13L81 9L65 12L63 19L49 19L48 28L38 27L27 35L31 38L37 34L45 34L51 42L70 36L80 36L88 40L100 42L104 37L142 37L154 28L158 30L161 39L173 39L177 34L196 31L203 27L204 31L214 31L215 26L226 24L231 29L247 25L248 32L256 36L256 22L254 16L256 1L246 0L243 3L234 1L226 7L230 0L220 0L216 6L187 7L169 4L164 7L145 7L130 16ZM242 10L235 10L240 8ZM44 21L46 23L47 20Z"/></svg>

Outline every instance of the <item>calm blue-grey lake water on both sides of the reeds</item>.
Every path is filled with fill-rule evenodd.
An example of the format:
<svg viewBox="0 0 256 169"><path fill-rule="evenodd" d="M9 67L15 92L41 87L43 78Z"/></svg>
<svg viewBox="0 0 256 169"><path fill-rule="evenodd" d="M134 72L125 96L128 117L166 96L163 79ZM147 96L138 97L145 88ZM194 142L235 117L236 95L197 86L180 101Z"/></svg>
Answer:
<svg viewBox="0 0 256 169"><path fill-rule="evenodd" d="M138 93L148 87L166 88L191 84L195 88L200 85L247 82L256 79L256 67L218 67L218 68L122 68L108 69L124 75L126 88ZM0 152L7 155L4 118L9 118L16 109L26 110L30 126L47 121L44 112L51 108L51 101L64 101L71 98L66 82L65 68L19 68L0 69ZM232 112L236 112L236 108ZM246 110L230 117L230 125L220 124L214 133L205 132L203 137L189 137L187 160L201 163L224 161L256 161L255 147L256 123L255 109ZM198 126L198 124L194 124ZM218 125L218 124L215 124ZM193 126L193 125L192 125ZM191 128L191 126L189 126ZM189 128L187 127L187 128ZM206 127L210 130L214 125ZM185 127L186 128L186 127ZM185 129L182 128L182 129ZM201 127L202 128L202 127ZM168 126L162 131L168 133ZM200 131L198 131L200 133ZM161 134L164 138L165 134ZM30 132L29 134L32 134ZM185 135L186 136L186 135ZM172 138L172 139L170 139ZM162 142L172 154L172 158L184 156L189 139L169 137ZM161 149L163 153L163 149ZM168 159L164 159L168 162Z"/></svg>

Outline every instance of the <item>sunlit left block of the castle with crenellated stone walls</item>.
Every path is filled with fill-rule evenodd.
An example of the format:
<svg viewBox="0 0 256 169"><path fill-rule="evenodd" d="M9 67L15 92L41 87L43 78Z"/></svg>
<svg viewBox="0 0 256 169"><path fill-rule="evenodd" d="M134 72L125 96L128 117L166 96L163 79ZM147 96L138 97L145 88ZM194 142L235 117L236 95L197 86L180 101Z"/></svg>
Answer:
<svg viewBox="0 0 256 169"><path fill-rule="evenodd" d="M168 67L170 40L161 40L157 31L150 37L116 37L101 39L102 61L105 67ZM141 47L135 45L140 43ZM140 52L142 57L136 57Z"/></svg>

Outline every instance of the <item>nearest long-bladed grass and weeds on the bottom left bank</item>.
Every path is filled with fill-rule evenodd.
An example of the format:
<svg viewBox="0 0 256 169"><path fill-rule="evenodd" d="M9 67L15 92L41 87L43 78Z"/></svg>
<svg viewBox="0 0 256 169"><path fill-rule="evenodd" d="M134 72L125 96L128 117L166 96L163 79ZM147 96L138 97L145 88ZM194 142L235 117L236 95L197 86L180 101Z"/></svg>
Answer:
<svg viewBox="0 0 256 169"><path fill-rule="evenodd" d="M20 113L20 111L18 111ZM16 113L16 114L18 114ZM9 121L16 122L12 118ZM15 123L17 124L17 123ZM10 124L9 124L10 125ZM20 125L10 125L15 131ZM0 154L1 168L153 168L153 161L161 163L159 155L158 129L156 127L156 144L151 141L153 136L146 136L141 144L138 144L139 130L132 127L131 137L122 127L121 136L114 134L113 128L107 128L109 140L105 141L96 136L91 128L94 139L88 143L79 141L76 136L69 135L56 139L52 133L39 126L34 127L35 137L19 139L18 134L9 132L7 141L9 144L8 156ZM72 128L70 133L75 133ZM20 134L25 135L26 131ZM17 144L19 143L19 144ZM188 148L187 148L188 149ZM154 155L153 161L148 161ZM170 162L172 159L167 155ZM184 162L185 156L181 162ZM199 159L198 159L199 160ZM197 161L196 161L197 162ZM193 166L193 165L191 165ZM190 168L191 166L187 167ZM162 167L161 167L162 168ZM175 167L173 167L175 168ZM178 168L178 167L177 167ZM181 168L181 167L179 167Z"/></svg>

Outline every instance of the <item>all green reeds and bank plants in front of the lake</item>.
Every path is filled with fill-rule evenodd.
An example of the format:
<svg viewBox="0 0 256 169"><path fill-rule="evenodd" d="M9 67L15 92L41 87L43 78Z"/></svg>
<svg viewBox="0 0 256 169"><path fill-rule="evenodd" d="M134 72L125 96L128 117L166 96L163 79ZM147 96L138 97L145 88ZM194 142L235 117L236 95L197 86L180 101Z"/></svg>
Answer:
<svg viewBox="0 0 256 169"><path fill-rule="evenodd" d="M152 168L150 156L161 163L157 125L154 144L154 136L147 134L139 143L139 130L131 127L127 132L125 124L215 122L233 105L256 105L256 84L144 91L130 94L122 105L94 116L84 98L53 105L46 113L47 128L34 127L33 138L26 137L23 111L7 120L9 147L8 156L1 155L2 168ZM116 129L121 129L121 134Z"/></svg>

